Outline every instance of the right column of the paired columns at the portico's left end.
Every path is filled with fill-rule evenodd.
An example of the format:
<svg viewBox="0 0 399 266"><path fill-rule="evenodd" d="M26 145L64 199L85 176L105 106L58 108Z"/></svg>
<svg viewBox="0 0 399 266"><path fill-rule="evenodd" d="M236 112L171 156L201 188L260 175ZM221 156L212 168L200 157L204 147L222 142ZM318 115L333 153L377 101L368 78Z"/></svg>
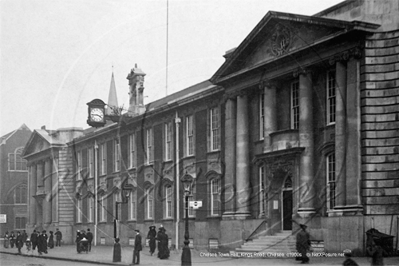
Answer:
<svg viewBox="0 0 399 266"><path fill-rule="evenodd" d="M235 217L245 218L249 213L249 123L248 96L237 96L236 183L237 210Z"/></svg>

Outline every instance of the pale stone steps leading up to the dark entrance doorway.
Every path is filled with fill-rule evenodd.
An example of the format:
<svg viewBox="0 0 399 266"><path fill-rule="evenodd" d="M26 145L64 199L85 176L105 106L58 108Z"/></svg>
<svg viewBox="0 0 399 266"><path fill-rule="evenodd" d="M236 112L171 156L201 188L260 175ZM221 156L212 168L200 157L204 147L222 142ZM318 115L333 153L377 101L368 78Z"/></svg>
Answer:
<svg viewBox="0 0 399 266"><path fill-rule="evenodd" d="M295 236L281 232L274 236L260 236L236 248L236 252L288 254L296 252ZM267 257L270 257L267 256Z"/></svg>

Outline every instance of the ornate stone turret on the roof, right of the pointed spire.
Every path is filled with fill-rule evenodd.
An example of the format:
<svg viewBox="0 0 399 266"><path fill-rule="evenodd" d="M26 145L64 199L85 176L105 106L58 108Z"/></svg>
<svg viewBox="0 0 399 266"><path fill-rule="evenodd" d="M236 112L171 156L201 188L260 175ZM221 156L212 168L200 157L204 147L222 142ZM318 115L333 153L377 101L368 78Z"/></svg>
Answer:
<svg viewBox="0 0 399 266"><path fill-rule="evenodd" d="M137 64L130 71L127 79L129 80L129 110L130 116L143 114L144 106L144 76L146 74L137 67Z"/></svg>

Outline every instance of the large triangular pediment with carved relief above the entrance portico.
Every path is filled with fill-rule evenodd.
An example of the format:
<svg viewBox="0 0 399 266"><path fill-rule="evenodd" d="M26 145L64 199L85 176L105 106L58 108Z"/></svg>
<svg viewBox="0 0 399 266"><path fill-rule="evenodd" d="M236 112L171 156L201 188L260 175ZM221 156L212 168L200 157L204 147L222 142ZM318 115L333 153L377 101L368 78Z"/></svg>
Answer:
<svg viewBox="0 0 399 266"><path fill-rule="evenodd" d="M211 81L218 84L233 73L294 55L351 30L377 27L357 21L268 12L237 48L226 53L226 61Z"/></svg>

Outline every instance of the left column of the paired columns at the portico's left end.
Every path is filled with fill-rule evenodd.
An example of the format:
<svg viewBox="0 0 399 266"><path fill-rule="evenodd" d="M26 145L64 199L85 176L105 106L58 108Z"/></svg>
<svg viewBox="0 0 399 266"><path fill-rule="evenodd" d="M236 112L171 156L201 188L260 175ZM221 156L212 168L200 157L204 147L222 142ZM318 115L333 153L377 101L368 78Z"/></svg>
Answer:
<svg viewBox="0 0 399 266"><path fill-rule="evenodd" d="M223 217L233 217L236 211L236 99L227 99L225 125L225 195Z"/></svg>

